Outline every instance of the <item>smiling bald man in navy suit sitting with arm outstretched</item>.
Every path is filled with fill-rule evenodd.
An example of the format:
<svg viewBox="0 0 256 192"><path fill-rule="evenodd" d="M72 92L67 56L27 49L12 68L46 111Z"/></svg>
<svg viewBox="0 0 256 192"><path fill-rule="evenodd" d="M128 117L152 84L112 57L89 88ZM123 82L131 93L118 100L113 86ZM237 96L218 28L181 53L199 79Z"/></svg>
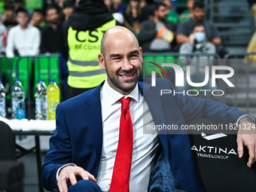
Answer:
<svg viewBox="0 0 256 192"><path fill-rule="evenodd" d="M101 52L99 66L106 70L106 80L96 89L62 102L56 109L56 131L42 167L44 187L59 191L109 190L119 136L118 101L131 97L130 191L203 191L186 132L144 134L143 127L148 122L181 126L200 117L236 123L245 113L209 99L181 94L160 96L160 90L173 90L174 86L170 81L159 80L157 87L151 87L139 80L142 48L135 35L124 27L114 26L105 32ZM255 141L253 134L238 135L239 148ZM251 151L248 166L251 166L255 146L248 148Z"/></svg>

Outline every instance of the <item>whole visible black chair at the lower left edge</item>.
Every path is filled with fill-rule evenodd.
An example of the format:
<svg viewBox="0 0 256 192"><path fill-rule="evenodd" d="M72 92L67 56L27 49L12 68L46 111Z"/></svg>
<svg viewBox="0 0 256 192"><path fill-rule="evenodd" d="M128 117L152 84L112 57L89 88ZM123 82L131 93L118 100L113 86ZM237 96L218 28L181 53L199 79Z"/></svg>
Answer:
<svg viewBox="0 0 256 192"><path fill-rule="evenodd" d="M0 191L23 192L23 163L17 162L14 134L0 121Z"/></svg>

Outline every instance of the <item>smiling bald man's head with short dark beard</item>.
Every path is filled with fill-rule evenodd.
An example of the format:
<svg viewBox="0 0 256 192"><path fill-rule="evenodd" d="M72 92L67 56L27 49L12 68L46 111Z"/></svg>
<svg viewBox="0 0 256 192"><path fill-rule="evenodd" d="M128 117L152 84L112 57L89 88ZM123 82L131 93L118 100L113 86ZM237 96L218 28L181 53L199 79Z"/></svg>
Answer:
<svg viewBox="0 0 256 192"><path fill-rule="evenodd" d="M108 84L128 95L142 76L142 48L132 32L115 26L105 38L104 50L104 55L99 54L99 66L106 70Z"/></svg>

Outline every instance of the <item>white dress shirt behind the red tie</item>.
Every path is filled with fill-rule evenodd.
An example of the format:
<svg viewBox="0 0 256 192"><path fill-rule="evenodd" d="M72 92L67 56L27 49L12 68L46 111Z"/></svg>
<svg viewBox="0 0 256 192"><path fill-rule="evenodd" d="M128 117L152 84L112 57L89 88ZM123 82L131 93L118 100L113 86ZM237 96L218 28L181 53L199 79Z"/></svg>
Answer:
<svg viewBox="0 0 256 192"><path fill-rule="evenodd" d="M100 99L102 105L102 156L99 164L97 184L102 191L108 191L114 160L117 154L119 139L119 126L121 103L117 102L123 95L113 90L108 81L101 88ZM133 120L133 157L130 172L130 192L148 191L148 181L154 166L154 156L157 152L159 139L156 134L143 134L143 125L152 123L153 119L148 105L143 101L138 84L128 96L133 98L130 102L130 114Z"/></svg>

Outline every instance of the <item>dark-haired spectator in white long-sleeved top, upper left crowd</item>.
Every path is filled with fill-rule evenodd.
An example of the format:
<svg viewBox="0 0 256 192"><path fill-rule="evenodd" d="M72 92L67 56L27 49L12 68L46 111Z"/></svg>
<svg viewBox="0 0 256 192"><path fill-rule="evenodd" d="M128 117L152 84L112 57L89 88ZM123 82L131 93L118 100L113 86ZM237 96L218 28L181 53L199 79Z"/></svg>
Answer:
<svg viewBox="0 0 256 192"><path fill-rule="evenodd" d="M39 53L41 35L39 29L29 24L29 14L24 8L17 9L17 23L10 29L7 38L6 56L35 56Z"/></svg>

